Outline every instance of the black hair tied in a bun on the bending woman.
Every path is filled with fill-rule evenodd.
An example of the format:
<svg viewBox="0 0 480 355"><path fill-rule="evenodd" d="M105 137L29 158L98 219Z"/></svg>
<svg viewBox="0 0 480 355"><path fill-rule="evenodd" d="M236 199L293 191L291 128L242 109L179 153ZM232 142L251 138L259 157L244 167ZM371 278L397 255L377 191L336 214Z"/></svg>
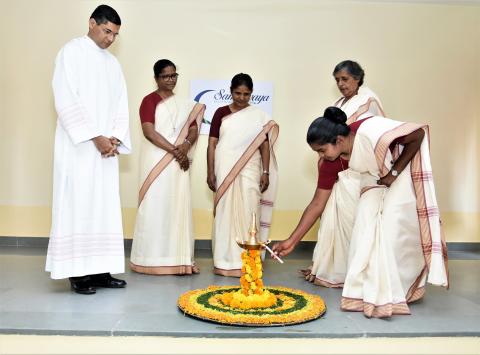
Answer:
<svg viewBox="0 0 480 355"><path fill-rule="evenodd" d="M330 106L325 109L323 117L316 118L307 132L308 144L335 144L338 136L348 136L350 127L345 123L347 115L338 107Z"/></svg>

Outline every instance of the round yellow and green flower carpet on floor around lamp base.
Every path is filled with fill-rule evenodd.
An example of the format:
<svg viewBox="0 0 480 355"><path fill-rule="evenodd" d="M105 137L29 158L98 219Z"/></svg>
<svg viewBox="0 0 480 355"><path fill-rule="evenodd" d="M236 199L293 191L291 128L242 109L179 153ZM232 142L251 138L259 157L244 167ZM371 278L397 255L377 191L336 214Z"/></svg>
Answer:
<svg viewBox="0 0 480 355"><path fill-rule="evenodd" d="M265 287L277 297L269 308L240 309L222 303L226 292L240 290L238 286L209 286L185 292L178 307L189 316L222 324L243 326L280 326L308 322L321 317L325 302L321 297L288 287Z"/></svg>

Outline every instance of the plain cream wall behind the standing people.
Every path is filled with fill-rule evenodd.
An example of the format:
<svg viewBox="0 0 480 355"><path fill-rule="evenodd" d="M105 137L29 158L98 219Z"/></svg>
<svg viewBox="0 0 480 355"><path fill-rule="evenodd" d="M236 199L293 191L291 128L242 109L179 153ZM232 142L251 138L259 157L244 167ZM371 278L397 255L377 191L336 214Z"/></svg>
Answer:
<svg viewBox="0 0 480 355"><path fill-rule="evenodd" d="M243 71L274 83L280 124L280 185L273 239L294 228L316 183L305 143L313 118L338 96L331 71L359 61L387 114L431 126L437 196L449 241L480 242L480 7L398 2L108 1L122 17L111 51L129 89L134 153L121 158L125 232L131 237L141 132L138 105L154 89L152 65L170 58L190 79L229 79ZM0 235L47 236L55 111L53 61L86 33L96 1L2 1L0 12ZM208 239L212 195L206 139L193 165L197 238ZM467 168L468 167L468 168ZM315 239L311 231L308 239Z"/></svg>

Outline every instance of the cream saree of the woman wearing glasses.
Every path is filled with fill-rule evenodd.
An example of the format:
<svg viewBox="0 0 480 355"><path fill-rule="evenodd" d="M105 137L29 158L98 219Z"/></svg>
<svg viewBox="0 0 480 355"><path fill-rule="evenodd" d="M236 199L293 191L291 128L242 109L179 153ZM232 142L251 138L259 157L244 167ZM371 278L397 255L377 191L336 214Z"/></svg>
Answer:
<svg viewBox="0 0 480 355"><path fill-rule="evenodd" d="M193 121L200 127L205 106L172 96L155 110L155 130L170 143L183 143ZM188 155L191 158L195 146ZM130 267L153 275L192 274L194 230L190 169L183 171L171 153L144 141L139 207Z"/></svg>

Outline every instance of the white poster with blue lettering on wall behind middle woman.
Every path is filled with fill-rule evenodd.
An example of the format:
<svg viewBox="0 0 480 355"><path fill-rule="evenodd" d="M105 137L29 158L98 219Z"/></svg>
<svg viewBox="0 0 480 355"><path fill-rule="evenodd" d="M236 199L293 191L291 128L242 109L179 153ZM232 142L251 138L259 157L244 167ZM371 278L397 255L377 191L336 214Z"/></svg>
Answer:
<svg viewBox="0 0 480 355"><path fill-rule="evenodd" d="M272 116L273 83L270 81L254 81L250 105L257 105ZM232 102L230 80L191 80L190 97L207 107L202 121L200 134L210 132L210 122L217 108Z"/></svg>

